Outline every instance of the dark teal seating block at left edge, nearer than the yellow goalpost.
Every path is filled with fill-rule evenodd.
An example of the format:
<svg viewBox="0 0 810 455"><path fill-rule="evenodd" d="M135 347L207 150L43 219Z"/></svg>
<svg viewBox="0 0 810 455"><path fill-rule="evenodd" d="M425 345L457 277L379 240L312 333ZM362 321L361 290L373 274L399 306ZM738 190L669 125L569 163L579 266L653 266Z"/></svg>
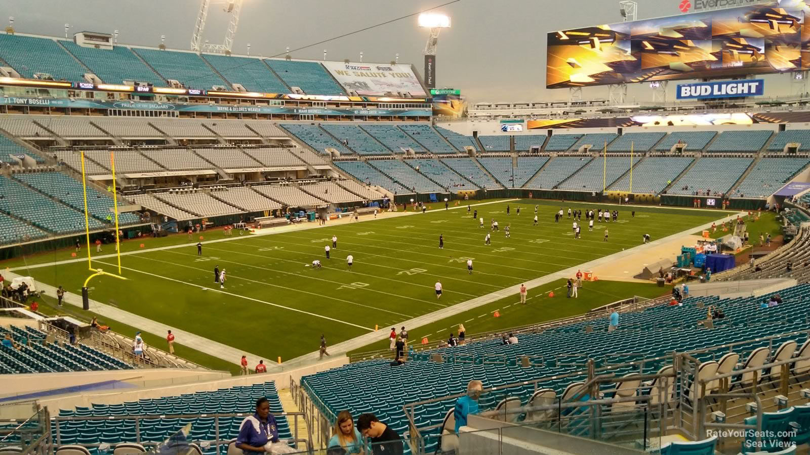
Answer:
<svg viewBox="0 0 810 455"><path fill-rule="evenodd" d="M5 338L6 334L19 343L19 349L0 347L0 372L3 374L132 369L121 360L82 344L45 343L45 332L33 327L0 327L0 338Z"/></svg>

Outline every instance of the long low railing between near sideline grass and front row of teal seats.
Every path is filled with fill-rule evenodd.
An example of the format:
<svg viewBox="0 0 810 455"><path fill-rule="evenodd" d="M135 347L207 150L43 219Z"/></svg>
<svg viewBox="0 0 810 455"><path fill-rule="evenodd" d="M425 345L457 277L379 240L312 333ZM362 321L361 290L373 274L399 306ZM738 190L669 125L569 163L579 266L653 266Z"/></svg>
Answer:
<svg viewBox="0 0 810 455"><path fill-rule="evenodd" d="M665 302L668 302L669 300L671 300L671 298L668 296L659 297L656 299L647 299L646 297L633 296L629 299L616 300L616 302L612 302L610 304L606 304L598 308L593 308L590 311L588 311L588 313L580 314L578 316L563 317L560 319L554 319L552 321L544 321L529 325L519 325L517 327L511 327L507 329L491 330L488 332L482 332L480 334L467 335L467 337L464 339L464 342L468 344L471 342L489 341L495 338L500 338L501 335L503 334L538 333L543 330L552 329L554 327L558 327L561 325L570 325L577 322L584 322L598 319L600 317L604 317L604 312L608 310L617 309L620 311L640 311L645 308L650 308L654 307L655 305L663 304ZM442 347L443 343L445 343L445 340L436 340L433 342L421 344L420 340L415 339L412 343L411 342L408 343L408 347L412 346L414 348L414 351L416 352L430 351L436 349L437 347ZM349 355L349 362L360 362L361 360L387 358L390 357L390 355L391 355L390 349L357 352Z"/></svg>

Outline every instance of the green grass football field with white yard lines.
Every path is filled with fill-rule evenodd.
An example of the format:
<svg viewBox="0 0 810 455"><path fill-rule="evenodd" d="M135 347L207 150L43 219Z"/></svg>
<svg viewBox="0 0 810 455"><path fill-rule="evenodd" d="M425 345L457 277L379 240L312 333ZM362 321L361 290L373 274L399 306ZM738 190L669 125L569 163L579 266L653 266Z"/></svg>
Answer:
<svg viewBox="0 0 810 455"><path fill-rule="evenodd" d="M511 215L505 213L507 204ZM535 204L539 204L537 226L532 222ZM731 213L645 206L636 207L636 216L631 218L629 210L616 206L612 208L620 210L619 223L607 225L610 237L604 242L605 223L596 223L595 232L583 228L582 239L574 239L570 219L554 222L560 206L560 202L538 200L473 206L484 218L485 227L480 228L466 206L444 210L442 204L432 206L426 214L327 224L268 236L234 235L232 240L204 245L203 257L197 256L196 237L188 240L178 234L128 240L122 244L122 252L137 251L122 256L123 274L129 280L93 279L90 297L266 359L281 356L286 360L316 351L321 334L334 344L378 326L380 337L386 338L386 329L392 325L399 329L411 317L633 248L642 243L643 233L656 240ZM598 207L566 202L565 209L569 206L583 212ZM498 220L501 230L492 232L492 245L484 245L492 218ZM584 216L582 223L586 226ZM511 238L505 238L504 228L509 224ZM444 235L444 249L438 248L440 234ZM331 244L333 235L338 236L338 248L326 260L324 246ZM207 232L205 238L217 240L224 234ZM139 249L140 242L146 248ZM181 247L155 249L169 245ZM111 252L109 245L105 248L104 253ZM79 294L88 274L86 262L25 267L64 261L70 259L70 252L20 257L2 262L0 267L21 267L17 273ZM346 264L348 254L354 257L351 270ZM468 257L473 258L473 274L467 273ZM322 269L309 266L315 259L322 262ZM112 270L115 258L95 263ZM213 283L214 266L227 270L224 289ZM441 300L433 289L437 280L444 286ZM560 286L560 282L548 283L531 292L539 296L547 287ZM469 334L583 313L625 296L659 294L659 289L644 284L601 282L576 304L532 304L531 309L522 309L510 305L518 300L515 296L460 314L453 321L436 321L411 334L444 338L445 327L492 308L502 307L502 317L467 322Z"/></svg>

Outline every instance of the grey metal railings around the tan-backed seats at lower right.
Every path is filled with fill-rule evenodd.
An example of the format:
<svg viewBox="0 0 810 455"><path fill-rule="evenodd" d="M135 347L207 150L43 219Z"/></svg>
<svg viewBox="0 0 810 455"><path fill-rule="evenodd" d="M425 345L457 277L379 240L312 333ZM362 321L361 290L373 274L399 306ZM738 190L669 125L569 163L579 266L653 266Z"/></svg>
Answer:
<svg viewBox="0 0 810 455"><path fill-rule="evenodd" d="M488 398L487 402L502 403L507 399L520 399L515 395L516 390L529 389L527 393L531 393L534 397L537 392L546 389L545 381L559 381L565 377L572 378L572 382L582 381L582 376L586 375L586 381L577 387L578 392L567 397L556 396L552 403L541 405L535 405L524 399L522 402L527 402L524 406L487 409L479 416L499 421L497 424L492 423L491 428L494 429L503 427L502 422L513 426L527 425L528 416L542 415L542 418L531 421L531 424L552 432L630 444L635 449L642 449L639 441L643 441L642 444L646 446L644 449L648 449L650 447L648 443L671 432L680 432L692 440L705 439L709 434L719 434L721 445L728 446L740 442L756 446L762 444L761 438L766 436L762 432L763 413L787 409L798 404L804 405L807 402L810 391L805 392L806 389L803 387L806 381L810 380L808 350L799 349L799 345L796 344L789 347L795 351L789 351L791 355L787 358L769 357L770 360L766 360L764 364L755 364L748 368L745 368L746 364L737 364L736 367L740 369L700 377L701 365L717 364L716 361L708 359L706 354L711 351L714 351L715 355L718 352L734 353L735 348L743 351L750 347L751 343L756 343L758 347L767 347L770 356L778 353L779 350L774 351L774 347L779 347L777 343L783 344L786 339L788 343L800 341L803 339L801 337L808 337L808 334L810 330L799 330L694 351L673 352L663 357L639 359L603 368L594 368L593 359L587 359L586 368L580 371L484 389L484 395L494 396ZM700 359L701 356L703 361ZM663 364L659 372L642 374L645 364L653 362L661 365L660 361L663 359L668 359L669 362ZM626 371L623 368L628 365L637 367L638 373L617 376L613 372ZM714 368L716 371L716 366ZM639 381L638 385L630 388L620 387L621 381L631 380ZM796 384L791 385L791 380ZM663 382L654 386L658 381ZM616 392L619 389L623 393L617 398ZM651 390L656 391L658 395L651 394ZM611 393L612 398L606 398ZM664 396L664 393L667 396ZM424 451L426 447L436 442L435 439L441 438L437 430L441 432L443 427L443 424L420 427L416 423L419 420L416 409L427 409L425 405L430 403L446 403L462 396L464 393L456 393L411 402L403 406L411 427L413 453L421 453L418 451ZM617 403L630 404L616 406ZM722 413L722 417L717 412ZM756 419L750 419L754 416ZM785 431L790 432L791 427L785 428ZM802 431L807 432L808 429L803 428ZM740 438L741 433L744 433L744 438Z"/></svg>

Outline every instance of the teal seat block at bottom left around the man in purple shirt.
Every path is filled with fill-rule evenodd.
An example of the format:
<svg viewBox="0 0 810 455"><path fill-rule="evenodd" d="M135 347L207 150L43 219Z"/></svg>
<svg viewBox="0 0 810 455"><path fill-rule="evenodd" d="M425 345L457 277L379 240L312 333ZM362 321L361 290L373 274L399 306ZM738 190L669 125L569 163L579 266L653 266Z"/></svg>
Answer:
<svg viewBox="0 0 810 455"><path fill-rule="evenodd" d="M181 427L191 424L190 442L203 446L203 453L225 453L229 440L237 437L244 416L220 417L218 422L213 414L252 415L254 403L266 397L270 411L275 415L276 429L281 440L292 439L293 435L287 416L279 400L275 383L264 382L254 385L236 385L229 389L208 392L184 393L162 398L144 398L136 402L118 404L93 404L91 407L76 406L73 410L59 410L59 417L109 417L97 420L60 420L53 422L54 438L58 434L61 444L111 444L135 442L139 436L141 443L160 443L179 432ZM191 419L169 419L162 415L204 415ZM54 411L53 415L56 415ZM148 416L136 425L131 419L113 419L114 416ZM58 426L58 428L57 428ZM216 427L219 427L219 435ZM219 436L224 441L217 447ZM205 441L207 444L200 444ZM209 445L210 444L210 445ZM91 449L94 450L94 449Z"/></svg>

